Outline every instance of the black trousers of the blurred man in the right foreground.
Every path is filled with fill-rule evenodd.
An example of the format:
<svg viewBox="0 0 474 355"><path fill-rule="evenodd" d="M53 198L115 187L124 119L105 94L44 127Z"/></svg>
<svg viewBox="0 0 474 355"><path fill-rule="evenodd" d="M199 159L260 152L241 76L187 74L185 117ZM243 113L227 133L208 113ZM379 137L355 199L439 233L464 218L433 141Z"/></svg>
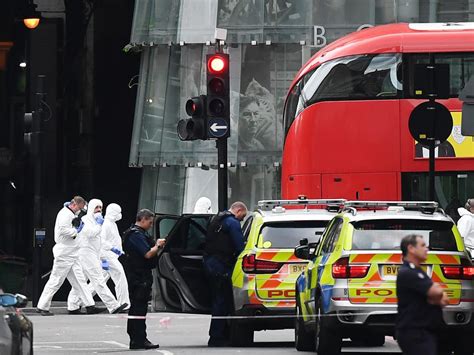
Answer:
<svg viewBox="0 0 474 355"><path fill-rule="evenodd" d="M398 345L404 355L436 355L437 338L432 331L423 328L397 330Z"/></svg>

